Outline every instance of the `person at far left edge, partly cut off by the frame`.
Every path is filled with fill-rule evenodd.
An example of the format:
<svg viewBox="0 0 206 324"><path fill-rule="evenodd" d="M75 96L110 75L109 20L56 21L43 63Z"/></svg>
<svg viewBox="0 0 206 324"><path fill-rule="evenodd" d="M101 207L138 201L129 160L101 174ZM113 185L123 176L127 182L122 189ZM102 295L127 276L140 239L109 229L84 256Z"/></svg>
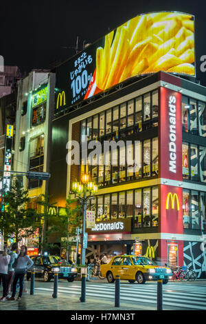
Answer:
<svg viewBox="0 0 206 324"><path fill-rule="evenodd" d="M3 247L3 253L0 254L0 279L3 285L3 296L0 301L6 301L8 264L10 263L10 255L7 254L7 247Z"/></svg>

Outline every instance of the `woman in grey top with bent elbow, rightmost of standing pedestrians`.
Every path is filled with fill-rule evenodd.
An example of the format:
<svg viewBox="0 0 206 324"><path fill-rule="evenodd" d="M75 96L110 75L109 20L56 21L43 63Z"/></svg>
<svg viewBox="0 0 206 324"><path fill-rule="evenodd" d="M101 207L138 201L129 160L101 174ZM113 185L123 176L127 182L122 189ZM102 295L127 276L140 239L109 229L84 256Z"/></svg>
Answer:
<svg viewBox="0 0 206 324"><path fill-rule="evenodd" d="M12 285L12 296L8 298L8 301L14 301L15 300L15 295L16 295L16 284L17 281L19 280L19 296L16 298L16 301L21 300L21 296L23 293L23 280L25 273L27 270L32 267L34 262L30 259L30 256L27 255L27 247L25 245L21 246L20 254L18 258L16 259L16 265L14 267L14 281Z"/></svg>

